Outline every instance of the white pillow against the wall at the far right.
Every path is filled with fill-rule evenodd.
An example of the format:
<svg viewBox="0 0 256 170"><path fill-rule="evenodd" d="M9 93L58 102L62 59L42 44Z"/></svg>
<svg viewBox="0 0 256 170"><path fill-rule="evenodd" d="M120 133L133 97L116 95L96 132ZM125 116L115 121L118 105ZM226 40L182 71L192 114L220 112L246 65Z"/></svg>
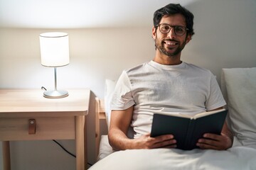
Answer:
<svg viewBox="0 0 256 170"><path fill-rule="evenodd" d="M235 137L242 145L256 147L256 67L223 69L222 90Z"/></svg>

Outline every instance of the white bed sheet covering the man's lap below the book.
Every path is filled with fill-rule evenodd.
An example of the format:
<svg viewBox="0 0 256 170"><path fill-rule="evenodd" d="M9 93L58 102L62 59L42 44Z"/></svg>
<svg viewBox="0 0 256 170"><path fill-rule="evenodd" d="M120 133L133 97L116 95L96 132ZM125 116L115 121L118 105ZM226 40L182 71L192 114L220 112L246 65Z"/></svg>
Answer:
<svg viewBox="0 0 256 170"><path fill-rule="evenodd" d="M255 170L256 149L232 147L225 151L211 149L132 149L113 152L90 168L112 170Z"/></svg>

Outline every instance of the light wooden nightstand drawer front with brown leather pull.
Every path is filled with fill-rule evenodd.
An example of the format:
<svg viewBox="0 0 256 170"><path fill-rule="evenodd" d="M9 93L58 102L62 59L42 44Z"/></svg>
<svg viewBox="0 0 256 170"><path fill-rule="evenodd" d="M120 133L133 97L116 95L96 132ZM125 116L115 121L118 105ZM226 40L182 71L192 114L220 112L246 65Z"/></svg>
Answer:
<svg viewBox="0 0 256 170"><path fill-rule="evenodd" d="M35 120L30 123L29 120ZM33 124L33 127L30 125ZM29 127L35 128L29 134ZM31 133L31 132L30 132ZM73 140L75 139L74 117L48 118L1 118L0 140Z"/></svg>

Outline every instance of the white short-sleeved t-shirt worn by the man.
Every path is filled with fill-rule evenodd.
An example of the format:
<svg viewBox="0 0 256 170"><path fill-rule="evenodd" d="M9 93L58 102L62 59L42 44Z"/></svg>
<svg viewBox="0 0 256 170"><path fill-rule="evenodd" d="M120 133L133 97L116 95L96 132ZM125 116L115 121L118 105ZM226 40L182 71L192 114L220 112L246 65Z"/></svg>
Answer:
<svg viewBox="0 0 256 170"><path fill-rule="evenodd" d="M182 62L146 62L122 72L114 89L112 110L134 106L134 137L151 131L153 114L196 114L225 106L214 75L208 69Z"/></svg>

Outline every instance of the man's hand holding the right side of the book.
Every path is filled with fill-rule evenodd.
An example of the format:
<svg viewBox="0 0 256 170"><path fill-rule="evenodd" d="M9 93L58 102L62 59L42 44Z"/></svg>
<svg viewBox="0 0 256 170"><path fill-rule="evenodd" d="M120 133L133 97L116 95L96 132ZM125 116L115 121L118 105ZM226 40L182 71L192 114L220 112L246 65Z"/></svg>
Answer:
<svg viewBox="0 0 256 170"><path fill-rule="evenodd" d="M233 143L230 137L224 133L221 133L221 135L206 133L203 137L196 144L201 149L225 150L230 148Z"/></svg>

